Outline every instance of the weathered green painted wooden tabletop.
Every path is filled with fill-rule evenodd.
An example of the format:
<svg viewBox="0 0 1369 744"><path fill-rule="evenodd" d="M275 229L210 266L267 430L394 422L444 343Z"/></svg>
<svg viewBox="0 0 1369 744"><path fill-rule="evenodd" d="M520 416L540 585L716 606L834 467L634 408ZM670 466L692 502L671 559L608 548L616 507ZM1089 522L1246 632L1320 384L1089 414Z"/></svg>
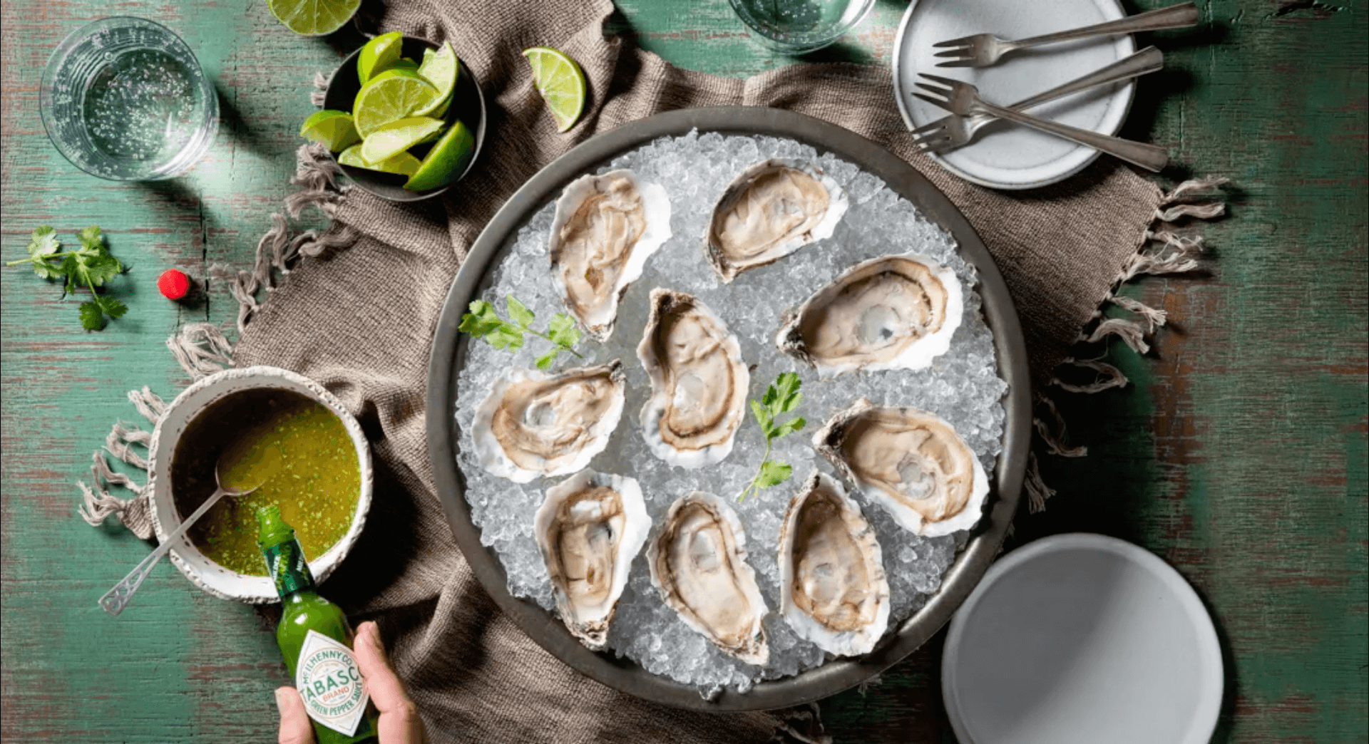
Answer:
<svg viewBox="0 0 1369 744"><path fill-rule="evenodd" d="M1046 0L1038 0L1046 1ZM1233 179L1231 217L1209 226L1207 274L1124 291L1173 319L1158 349L1113 357L1134 386L1062 394L1083 460L1046 458L1060 490L1023 514L1014 542L1094 531L1179 568L1217 622L1227 662L1218 743L1366 741L1366 16L1361 0L1201 1L1209 26L1153 41L1166 70L1139 89L1124 134L1166 145L1166 176ZM1128 3L1132 11L1166 0ZM793 60L761 51L723 0L622 0L615 30L665 59L749 75ZM878 0L839 48L887 64L906 4ZM189 176L116 185L68 165L38 119L38 78L73 29L110 14L182 34L216 81L223 126ZM94 600L148 546L75 516L74 480L149 384L186 380L163 339L234 317L220 282L203 302L162 300L157 274L201 282L246 265L289 193L296 127L315 71L360 44L300 38L261 0L14 0L3 14L0 256L30 230L99 224L133 265L114 294L130 313L99 334L21 269L3 282L3 713L5 741L267 741L285 669L251 609L194 591L170 565L123 617ZM839 743L953 741L936 637L883 684L823 702Z"/></svg>

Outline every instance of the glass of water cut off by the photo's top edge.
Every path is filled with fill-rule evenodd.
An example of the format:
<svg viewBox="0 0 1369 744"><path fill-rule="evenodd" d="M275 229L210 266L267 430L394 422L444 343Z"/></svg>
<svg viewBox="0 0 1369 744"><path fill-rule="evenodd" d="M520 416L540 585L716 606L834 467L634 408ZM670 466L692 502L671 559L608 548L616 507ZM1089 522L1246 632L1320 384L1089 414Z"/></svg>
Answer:
<svg viewBox="0 0 1369 744"><path fill-rule="evenodd" d="M813 52L869 15L875 0L730 0L742 22L775 49Z"/></svg>

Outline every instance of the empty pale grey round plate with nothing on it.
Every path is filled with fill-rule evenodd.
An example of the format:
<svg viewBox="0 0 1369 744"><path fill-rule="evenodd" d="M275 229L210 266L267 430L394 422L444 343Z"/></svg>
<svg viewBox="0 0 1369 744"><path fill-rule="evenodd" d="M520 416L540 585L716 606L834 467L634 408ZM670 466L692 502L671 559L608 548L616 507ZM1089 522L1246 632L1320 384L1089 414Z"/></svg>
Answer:
<svg viewBox="0 0 1369 744"><path fill-rule="evenodd" d="M961 744L1206 744L1221 689L1217 632L1183 576L1082 532L994 563L942 658Z"/></svg>

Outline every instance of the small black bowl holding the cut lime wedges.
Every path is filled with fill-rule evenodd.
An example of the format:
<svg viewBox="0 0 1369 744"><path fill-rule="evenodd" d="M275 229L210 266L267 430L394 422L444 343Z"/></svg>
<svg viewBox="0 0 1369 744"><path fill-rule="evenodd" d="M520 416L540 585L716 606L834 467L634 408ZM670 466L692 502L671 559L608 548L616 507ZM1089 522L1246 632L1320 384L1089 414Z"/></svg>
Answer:
<svg viewBox="0 0 1369 744"><path fill-rule="evenodd" d="M404 37L404 45L400 48L400 56L409 57L415 62L423 60L424 49L437 49L438 45L427 41L424 38L415 38L412 36ZM457 51L457 56L460 56ZM352 111L352 104L356 101L357 92L361 90L361 81L356 77L356 57L361 55L361 49L357 49L348 55L342 64L333 71L333 78L329 79L329 89L323 94L323 108L331 108L334 111ZM481 145L485 144L485 93L481 92L481 83L475 79L471 68L465 66L461 60L461 74L456 79L456 90L452 92L452 105L446 108L448 124L461 120L465 129L471 130L471 135L475 137L475 155L471 156L470 164L465 165L465 171L452 179L452 183L465 178L465 174L471 172L475 167L476 160L481 159ZM426 148L428 145L419 145L419 148ZM416 155L420 155L420 150ZM331 153L330 153L331 156ZM333 156L335 160L335 156ZM420 155L422 159L422 155ZM353 165L341 165L342 172L352 179L361 189L390 201L422 201L424 198L433 198L442 191L452 187L452 183L446 186L439 186L437 189L428 189L426 191L407 191L404 190L404 182L408 176L398 174L382 174L379 171L368 171L366 168L357 168Z"/></svg>

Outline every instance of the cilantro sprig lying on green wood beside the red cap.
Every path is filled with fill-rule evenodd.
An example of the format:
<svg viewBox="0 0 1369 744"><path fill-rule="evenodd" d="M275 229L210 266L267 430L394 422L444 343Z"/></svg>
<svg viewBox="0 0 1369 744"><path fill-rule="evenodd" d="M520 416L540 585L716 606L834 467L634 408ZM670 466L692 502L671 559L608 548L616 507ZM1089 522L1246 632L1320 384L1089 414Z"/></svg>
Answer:
<svg viewBox="0 0 1369 744"><path fill-rule="evenodd" d="M57 232L48 226L38 227L29 239L29 257L8 261L5 265L30 264L33 272L44 279L62 279L63 297L85 287L90 293L90 300L79 306L81 327L86 331L99 331L104 328L105 316L120 317L129 309L123 302L96 290L123 274L125 268L110 254L99 227L92 224L78 232L77 238L81 241L81 248L63 252Z"/></svg>

